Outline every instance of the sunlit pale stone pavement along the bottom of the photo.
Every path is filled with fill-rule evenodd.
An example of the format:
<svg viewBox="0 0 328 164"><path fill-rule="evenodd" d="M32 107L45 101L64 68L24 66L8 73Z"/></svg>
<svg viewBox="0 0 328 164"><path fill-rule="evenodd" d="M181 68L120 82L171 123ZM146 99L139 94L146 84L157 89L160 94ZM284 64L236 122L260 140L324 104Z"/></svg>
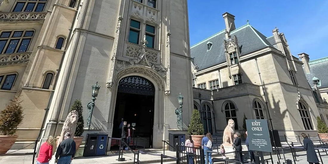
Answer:
<svg viewBox="0 0 328 164"><path fill-rule="evenodd" d="M10 150L12 152L13 150ZM160 154L163 153L162 149L153 149L149 150L148 154L141 154L139 155L139 161L140 163L160 163ZM297 154L305 154L306 152L297 152ZM10 163L10 164L32 164L32 155L33 150L20 150L13 154L7 154L0 156L0 163ZM321 153L322 155L323 153ZM175 156L175 152L165 151L165 155L168 156ZM293 159L291 153L285 154L286 159ZM118 154L117 152L108 152L108 155L106 156L95 156L95 157L82 157L78 156L75 157L72 161L72 164L132 164L133 163L133 154L130 151L126 151L123 153L123 157L126 158L126 161L119 162L117 161ZM281 154L281 157L283 155ZM269 156L265 156L265 158L269 158ZM273 155L274 164L277 164L277 155ZM308 164L306 161L306 156L299 156L297 157L296 164ZM323 164L328 164L328 156L322 156ZM174 160L170 158L165 158L164 162L166 164L172 164L175 163ZM280 162L284 162L283 159L280 159ZM36 163L36 159L34 164ZM269 162L271 164L271 162ZM293 162L294 164L294 162ZM322 164L320 162L320 164Z"/></svg>

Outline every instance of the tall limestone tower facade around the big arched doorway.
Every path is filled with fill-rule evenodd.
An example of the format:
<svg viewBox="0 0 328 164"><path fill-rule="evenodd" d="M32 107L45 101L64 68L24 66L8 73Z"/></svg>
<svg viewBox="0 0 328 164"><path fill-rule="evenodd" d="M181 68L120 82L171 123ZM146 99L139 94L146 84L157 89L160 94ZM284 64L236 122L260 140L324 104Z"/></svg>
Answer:
<svg viewBox="0 0 328 164"><path fill-rule="evenodd" d="M30 9L24 4L18 9L20 3L3 1L0 6L1 32L34 31L26 52L3 50L0 58L0 75L17 74L10 90L0 90L1 109L10 98L22 95L25 114L12 149L26 146L38 136L42 142L59 135L77 98L85 104L86 124L86 105L95 81L101 88L91 130L86 129L84 135L100 132L112 136L118 83L132 75L154 84L154 148L161 148L161 140L177 130L174 110L179 92L184 95L182 123L187 128L193 91L186 0L48 0L36 2L44 7ZM132 21L139 22L139 27ZM135 40L129 39L131 29L138 32Z"/></svg>

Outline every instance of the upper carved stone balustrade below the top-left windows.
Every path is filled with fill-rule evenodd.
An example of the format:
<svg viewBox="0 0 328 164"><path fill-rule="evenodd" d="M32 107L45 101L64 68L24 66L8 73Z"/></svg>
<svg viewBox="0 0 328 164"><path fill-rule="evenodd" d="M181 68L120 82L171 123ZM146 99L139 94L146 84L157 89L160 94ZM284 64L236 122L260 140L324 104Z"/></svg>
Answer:
<svg viewBox="0 0 328 164"><path fill-rule="evenodd" d="M44 21L47 12L0 12L0 21Z"/></svg>

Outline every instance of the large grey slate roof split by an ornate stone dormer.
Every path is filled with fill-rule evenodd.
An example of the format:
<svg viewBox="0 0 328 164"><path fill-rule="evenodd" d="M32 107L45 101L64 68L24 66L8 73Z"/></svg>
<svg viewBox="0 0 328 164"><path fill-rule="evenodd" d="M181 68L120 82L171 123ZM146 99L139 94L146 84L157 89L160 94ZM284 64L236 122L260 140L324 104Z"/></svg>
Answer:
<svg viewBox="0 0 328 164"><path fill-rule="evenodd" d="M223 46L223 40L225 39L224 32L225 30L222 30L190 48L191 57L195 59L195 65L197 65L198 71L226 62ZM274 48L273 43L275 43L275 41L273 37L272 42L271 37L267 38L250 24L246 24L231 31L230 35L231 38L236 35L238 39L238 44L241 49L240 56L266 47ZM212 48L209 51L207 51L206 45L208 41L213 43Z"/></svg>

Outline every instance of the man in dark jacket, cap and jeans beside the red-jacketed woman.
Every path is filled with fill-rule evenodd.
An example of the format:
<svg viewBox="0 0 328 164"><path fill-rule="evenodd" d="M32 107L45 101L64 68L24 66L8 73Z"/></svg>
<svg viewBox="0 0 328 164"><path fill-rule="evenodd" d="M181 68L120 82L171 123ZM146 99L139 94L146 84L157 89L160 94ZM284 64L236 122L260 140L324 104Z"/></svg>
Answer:
<svg viewBox="0 0 328 164"><path fill-rule="evenodd" d="M71 133L66 133L65 139L58 145L55 155L55 163L58 162L58 164L70 164L72 162L76 153L76 144L75 141L70 138L70 136Z"/></svg>

